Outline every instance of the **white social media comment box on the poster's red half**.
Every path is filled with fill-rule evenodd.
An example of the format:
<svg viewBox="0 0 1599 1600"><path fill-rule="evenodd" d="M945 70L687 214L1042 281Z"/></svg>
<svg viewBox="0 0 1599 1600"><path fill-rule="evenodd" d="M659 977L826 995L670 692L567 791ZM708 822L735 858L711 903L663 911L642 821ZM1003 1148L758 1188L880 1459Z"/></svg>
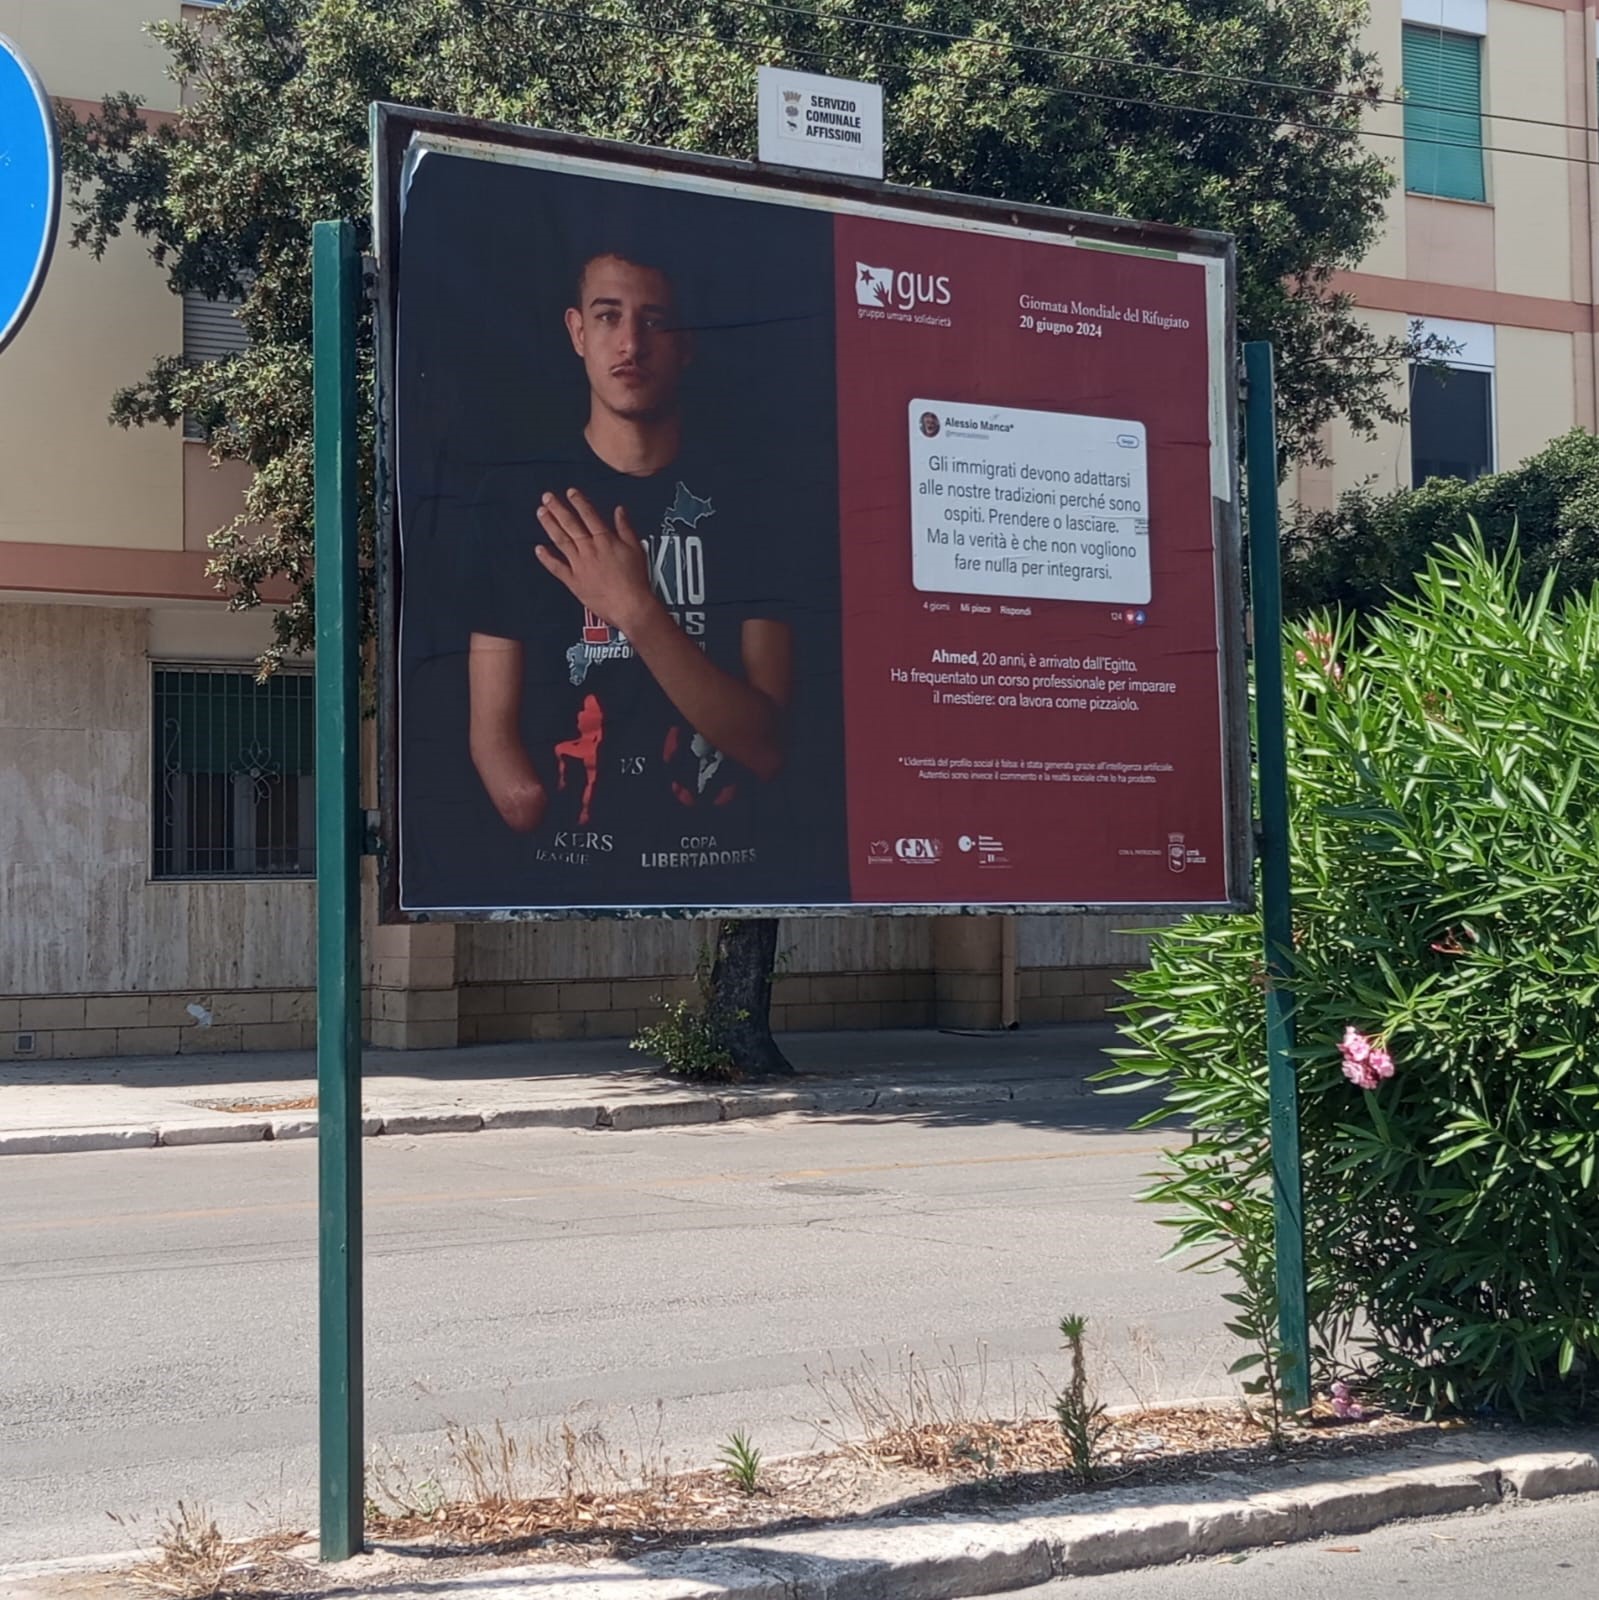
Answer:
<svg viewBox="0 0 1599 1600"><path fill-rule="evenodd" d="M1143 422L957 400L906 416L919 590L1149 603Z"/></svg>

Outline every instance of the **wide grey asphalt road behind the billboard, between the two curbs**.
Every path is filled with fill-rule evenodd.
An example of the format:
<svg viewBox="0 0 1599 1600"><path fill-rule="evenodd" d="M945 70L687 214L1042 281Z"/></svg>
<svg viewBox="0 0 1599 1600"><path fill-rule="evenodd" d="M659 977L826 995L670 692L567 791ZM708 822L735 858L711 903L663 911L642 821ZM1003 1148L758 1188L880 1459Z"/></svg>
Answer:
<svg viewBox="0 0 1599 1600"><path fill-rule="evenodd" d="M1007 1413L1066 1310L1106 1398L1226 1392L1223 1285L1133 1203L1162 1136L1127 1101L992 1112L367 1141L368 1438L411 1482L447 1422L800 1450L840 1410L807 1373L906 1349L975 1392L986 1347ZM179 1499L314 1520L315 1285L311 1142L0 1160L0 1563Z"/></svg>

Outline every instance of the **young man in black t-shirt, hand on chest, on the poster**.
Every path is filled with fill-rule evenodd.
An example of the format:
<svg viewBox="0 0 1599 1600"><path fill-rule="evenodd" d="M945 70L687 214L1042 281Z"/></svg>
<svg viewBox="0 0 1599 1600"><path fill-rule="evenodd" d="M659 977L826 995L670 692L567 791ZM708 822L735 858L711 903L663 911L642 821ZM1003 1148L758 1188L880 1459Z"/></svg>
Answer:
<svg viewBox="0 0 1599 1600"><path fill-rule="evenodd" d="M667 274L613 250L576 288L587 422L480 501L472 765L535 843L541 901L733 898L759 862L751 790L786 757L779 530L747 466L685 445L693 336Z"/></svg>

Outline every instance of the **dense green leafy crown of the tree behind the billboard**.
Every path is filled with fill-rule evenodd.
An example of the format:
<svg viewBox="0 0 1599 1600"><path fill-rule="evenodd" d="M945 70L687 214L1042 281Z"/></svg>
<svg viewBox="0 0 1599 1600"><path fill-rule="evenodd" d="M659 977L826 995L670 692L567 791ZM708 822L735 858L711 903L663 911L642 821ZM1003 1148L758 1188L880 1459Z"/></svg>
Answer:
<svg viewBox="0 0 1599 1600"><path fill-rule="evenodd" d="M368 226L368 104L751 155L754 72L778 62L884 86L890 181L1234 234L1239 326L1277 347L1285 453L1317 459L1332 416L1393 418L1412 354L1332 288L1391 186L1361 141L1381 91L1364 16L1364 0L235 0L158 22L174 120L146 122L130 94L62 110L74 243L99 253L131 229L174 291L240 301L250 347L163 357L112 418L187 416L214 456L248 462L211 570L235 606L287 578L266 666L306 650L309 235L319 218ZM362 360L370 378L370 330ZM370 410L362 427L370 472ZM733 944L759 957L770 930L743 926Z"/></svg>

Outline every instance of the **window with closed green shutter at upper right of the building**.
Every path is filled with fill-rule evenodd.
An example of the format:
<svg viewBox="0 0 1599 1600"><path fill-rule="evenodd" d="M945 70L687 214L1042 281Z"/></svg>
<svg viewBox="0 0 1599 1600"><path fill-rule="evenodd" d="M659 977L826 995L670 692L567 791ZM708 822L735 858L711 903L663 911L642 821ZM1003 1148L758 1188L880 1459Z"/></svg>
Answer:
<svg viewBox="0 0 1599 1600"><path fill-rule="evenodd" d="M1482 40L1405 24L1405 189L1485 200Z"/></svg>

